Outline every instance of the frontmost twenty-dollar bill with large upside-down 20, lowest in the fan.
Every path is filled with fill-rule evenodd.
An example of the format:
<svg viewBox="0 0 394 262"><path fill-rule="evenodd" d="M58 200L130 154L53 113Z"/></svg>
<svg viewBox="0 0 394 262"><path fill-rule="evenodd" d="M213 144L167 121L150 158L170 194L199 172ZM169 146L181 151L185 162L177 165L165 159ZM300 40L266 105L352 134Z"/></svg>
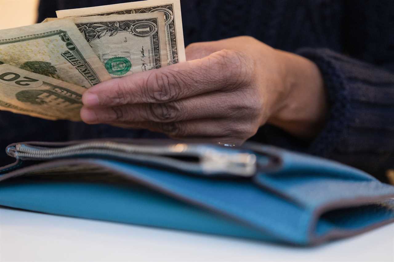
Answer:
<svg viewBox="0 0 394 262"><path fill-rule="evenodd" d="M0 110L48 120L81 121L86 89L0 63Z"/></svg>

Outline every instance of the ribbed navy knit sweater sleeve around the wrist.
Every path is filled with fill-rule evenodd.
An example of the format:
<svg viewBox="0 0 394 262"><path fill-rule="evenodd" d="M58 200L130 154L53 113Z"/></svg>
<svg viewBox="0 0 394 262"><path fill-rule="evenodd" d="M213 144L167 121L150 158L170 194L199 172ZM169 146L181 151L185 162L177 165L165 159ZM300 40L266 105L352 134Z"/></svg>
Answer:
<svg viewBox="0 0 394 262"><path fill-rule="evenodd" d="M394 168L394 74L326 49L297 53L320 68L331 105L308 151L385 180Z"/></svg>

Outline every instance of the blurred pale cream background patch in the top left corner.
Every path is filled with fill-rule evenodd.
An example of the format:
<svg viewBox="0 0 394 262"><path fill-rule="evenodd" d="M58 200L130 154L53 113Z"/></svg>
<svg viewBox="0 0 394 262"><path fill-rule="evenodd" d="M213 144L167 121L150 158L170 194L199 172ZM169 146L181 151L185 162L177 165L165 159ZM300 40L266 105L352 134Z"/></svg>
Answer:
<svg viewBox="0 0 394 262"><path fill-rule="evenodd" d="M39 0L0 0L0 29L34 24Z"/></svg>

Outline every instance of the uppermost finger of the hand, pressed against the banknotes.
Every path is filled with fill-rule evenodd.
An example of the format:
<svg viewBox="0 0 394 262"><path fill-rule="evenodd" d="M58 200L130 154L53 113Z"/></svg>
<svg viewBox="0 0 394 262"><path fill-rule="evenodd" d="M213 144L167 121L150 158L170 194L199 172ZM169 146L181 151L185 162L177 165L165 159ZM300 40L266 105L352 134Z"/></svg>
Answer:
<svg viewBox="0 0 394 262"><path fill-rule="evenodd" d="M87 90L82 101L87 107L168 103L241 85L251 78L246 63L242 53L221 50L203 59L100 83Z"/></svg>

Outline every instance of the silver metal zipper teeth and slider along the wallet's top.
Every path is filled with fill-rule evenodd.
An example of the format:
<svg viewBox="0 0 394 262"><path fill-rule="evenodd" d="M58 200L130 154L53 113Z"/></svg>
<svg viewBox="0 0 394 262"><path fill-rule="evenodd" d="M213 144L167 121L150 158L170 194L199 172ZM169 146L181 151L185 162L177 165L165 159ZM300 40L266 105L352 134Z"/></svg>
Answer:
<svg viewBox="0 0 394 262"><path fill-rule="evenodd" d="M245 159L245 154L248 153L224 153L214 148L208 148L204 146L189 146L187 144L175 144L170 146L136 146L136 145L123 145L114 142L91 142L85 144L78 144L74 146L68 146L65 148L55 149L37 149L34 147L28 147L23 144L17 144L15 146L17 150L15 157L20 159L36 159L36 160L49 160L63 157L72 157L73 155L87 155L87 154L103 154L114 157L121 157L123 159L135 159L140 161L151 161L160 162L166 166L173 166L181 168L183 170L200 170L204 173L217 173L227 172L234 175L248 175L253 173L252 170L248 170L247 167L233 170L230 167L231 164L244 164L245 166L251 167L253 163L242 162L234 159ZM197 157L199 159L198 164L191 162L180 161L177 159L171 159L169 156L190 156ZM225 166L217 166L212 164L214 161L220 159L227 159ZM223 164L223 163L222 163Z"/></svg>

